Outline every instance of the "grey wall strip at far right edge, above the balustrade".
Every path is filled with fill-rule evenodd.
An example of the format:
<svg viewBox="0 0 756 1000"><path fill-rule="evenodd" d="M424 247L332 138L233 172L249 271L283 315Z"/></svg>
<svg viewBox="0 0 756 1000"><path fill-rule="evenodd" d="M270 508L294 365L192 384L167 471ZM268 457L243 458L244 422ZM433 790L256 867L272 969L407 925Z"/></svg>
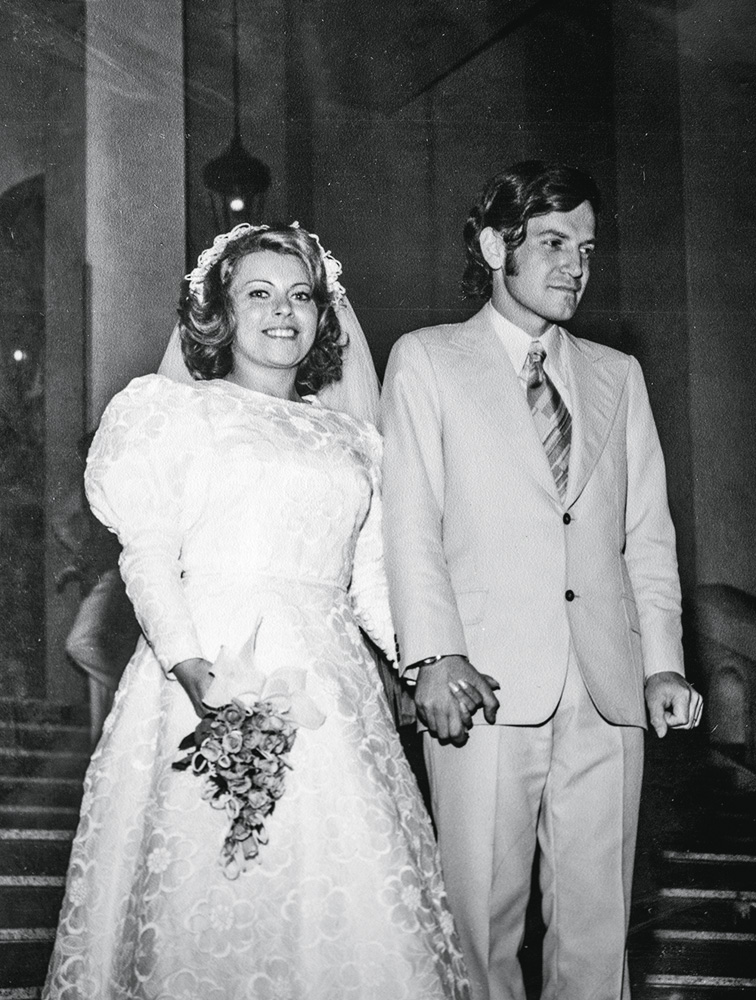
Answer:
<svg viewBox="0 0 756 1000"><path fill-rule="evenodd" d="M698 580L756 594L756 4L676 26Z"/></svg>

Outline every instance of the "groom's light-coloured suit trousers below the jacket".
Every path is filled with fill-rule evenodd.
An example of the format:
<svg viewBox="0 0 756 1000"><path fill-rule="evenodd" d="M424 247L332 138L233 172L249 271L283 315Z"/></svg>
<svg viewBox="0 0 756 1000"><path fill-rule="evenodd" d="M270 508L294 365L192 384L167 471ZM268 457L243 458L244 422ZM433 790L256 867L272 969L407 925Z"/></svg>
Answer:
<svg viewBox="0 0 756 1000"><path fill-rule="evenodd" d="M426 733L424 748L474 1000L525 1000L518 952L537 844L543 1000L627 1000L643 730L602 718L571 653L546 722L477 725L463 747Z"/></svg>

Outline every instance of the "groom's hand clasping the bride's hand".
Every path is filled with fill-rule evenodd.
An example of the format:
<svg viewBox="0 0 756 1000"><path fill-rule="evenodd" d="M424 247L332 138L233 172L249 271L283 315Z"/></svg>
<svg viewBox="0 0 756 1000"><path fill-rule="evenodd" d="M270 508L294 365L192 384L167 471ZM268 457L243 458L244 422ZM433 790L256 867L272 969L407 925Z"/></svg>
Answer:
<svg viewBox="0 0 756 1000"><path fill-rule="evenodd" d="M479 708L486 722L493 725L496 721L499 701L494 690L498 686L463 656L443 656L420 667L415 688L417 714L439 740L461 746Z"/></svg>

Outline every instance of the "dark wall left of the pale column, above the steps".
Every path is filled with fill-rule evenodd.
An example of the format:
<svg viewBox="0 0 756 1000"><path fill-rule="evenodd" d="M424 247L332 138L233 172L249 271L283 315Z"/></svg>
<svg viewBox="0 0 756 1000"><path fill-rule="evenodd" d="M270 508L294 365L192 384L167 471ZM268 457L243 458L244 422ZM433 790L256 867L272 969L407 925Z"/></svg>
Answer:
<svg viewBox="0 0 756 1000"><path fill-rule="evenodd" d="M81 698L78 588L53 533L80 488L85 411L85 4L0 0L0 493L5 695ZM10 532L10 536L8 533ZM45 671L46 664L46 671Z"/></svg>

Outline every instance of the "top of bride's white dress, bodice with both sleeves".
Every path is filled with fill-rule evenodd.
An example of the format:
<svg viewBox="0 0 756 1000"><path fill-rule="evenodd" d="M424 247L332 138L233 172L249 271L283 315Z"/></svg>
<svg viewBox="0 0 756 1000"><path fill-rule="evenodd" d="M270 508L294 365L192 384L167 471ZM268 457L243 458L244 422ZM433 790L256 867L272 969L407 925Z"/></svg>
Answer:
<svg viewBox="0 0 756 1000"><path fill-rule="evenodd" d="M372 425L314 401L159 375L119 393L89 456L87 494L119 535L163 667L202 655L195 626L209 594L269 580L350 591L390 653L379 462Z"/></svg>

